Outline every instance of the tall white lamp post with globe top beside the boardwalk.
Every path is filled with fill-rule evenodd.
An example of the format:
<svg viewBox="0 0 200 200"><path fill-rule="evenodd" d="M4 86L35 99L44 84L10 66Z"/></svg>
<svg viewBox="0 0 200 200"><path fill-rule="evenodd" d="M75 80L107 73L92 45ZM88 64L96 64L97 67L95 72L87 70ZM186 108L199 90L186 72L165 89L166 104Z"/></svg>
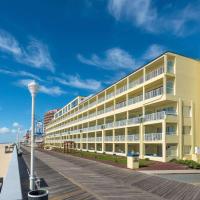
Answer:
<svg viewBox="0 0 200 200"><path fill-rule="evenodd" d="M30 190L35 190L35 176L34 176L35 96L39 89L39 86L35 81L32 81L28 84L28 89L32 97Z"/></svg>

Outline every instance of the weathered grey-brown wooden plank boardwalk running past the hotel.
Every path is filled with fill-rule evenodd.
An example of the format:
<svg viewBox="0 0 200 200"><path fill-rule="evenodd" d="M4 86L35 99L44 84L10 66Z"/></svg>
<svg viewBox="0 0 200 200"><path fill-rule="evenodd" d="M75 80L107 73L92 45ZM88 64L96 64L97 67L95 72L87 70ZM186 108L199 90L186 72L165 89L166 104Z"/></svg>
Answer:
<svg viewBox="0 0 200 200"><path fill-rule="evenodd" d="M36 156L38 175L49 185L51 199L68 199L65 195L73 187L80 192L77 199L200 199L198 186L56 152L36 151ZM28 161L29 155L24 159Z"/></svg>

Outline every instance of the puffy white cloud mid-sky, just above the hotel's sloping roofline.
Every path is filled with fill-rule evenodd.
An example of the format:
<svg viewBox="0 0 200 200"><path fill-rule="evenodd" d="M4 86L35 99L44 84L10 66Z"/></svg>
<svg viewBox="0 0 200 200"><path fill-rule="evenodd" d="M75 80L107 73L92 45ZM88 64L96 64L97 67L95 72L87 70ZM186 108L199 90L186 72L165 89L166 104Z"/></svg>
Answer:
<svg viewBox="0 0 200 200"><path fill-rule="evenodd" d="M135 67L134 58L128 52L120 48L106 50L104 57L102 58L96 54L93 54L91 58L85 58L83 55L78 54L77 58L84 64L97 66L107 70L133 69Z"/></svg>

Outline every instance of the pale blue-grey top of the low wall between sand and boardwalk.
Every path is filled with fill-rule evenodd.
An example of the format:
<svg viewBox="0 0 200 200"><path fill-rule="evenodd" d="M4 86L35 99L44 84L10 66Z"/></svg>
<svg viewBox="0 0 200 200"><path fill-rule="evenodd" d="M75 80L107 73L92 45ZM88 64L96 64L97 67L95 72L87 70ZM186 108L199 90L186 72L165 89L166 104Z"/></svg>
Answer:
<svg viewBox="0 0 200 200"><path fill-rule="evenodd" d="M0 200L22 200L17 148L14 148L7 175L3 181Z"/></svg>

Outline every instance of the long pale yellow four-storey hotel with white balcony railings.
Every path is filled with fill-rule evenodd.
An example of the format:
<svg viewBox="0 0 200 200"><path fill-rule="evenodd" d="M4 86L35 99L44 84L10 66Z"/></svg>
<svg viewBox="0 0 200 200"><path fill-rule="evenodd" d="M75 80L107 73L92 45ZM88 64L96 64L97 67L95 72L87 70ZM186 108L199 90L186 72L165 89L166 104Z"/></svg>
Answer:
<svg viewBox="0 0 200 200"><path fill-rule="evenodd" d="M198 160L200 62L166 52L103 91L78 96L45 130L45 147L65 141L82 151Z"/></svg>

